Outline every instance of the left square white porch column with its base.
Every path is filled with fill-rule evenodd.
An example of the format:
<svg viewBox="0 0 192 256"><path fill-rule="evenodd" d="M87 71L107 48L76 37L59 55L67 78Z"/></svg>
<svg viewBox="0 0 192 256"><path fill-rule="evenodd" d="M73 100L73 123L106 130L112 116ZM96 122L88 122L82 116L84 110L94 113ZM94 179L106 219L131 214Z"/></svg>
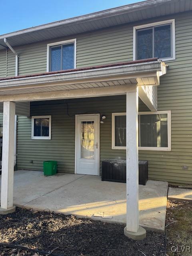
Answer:
<svg viewBox="0 0 192 256"><path fill-rule="evenodd" d="M14 126L15 102L3 102L3 145L0 214L8 214L15 211L15 206L13 206Z"/></svg>

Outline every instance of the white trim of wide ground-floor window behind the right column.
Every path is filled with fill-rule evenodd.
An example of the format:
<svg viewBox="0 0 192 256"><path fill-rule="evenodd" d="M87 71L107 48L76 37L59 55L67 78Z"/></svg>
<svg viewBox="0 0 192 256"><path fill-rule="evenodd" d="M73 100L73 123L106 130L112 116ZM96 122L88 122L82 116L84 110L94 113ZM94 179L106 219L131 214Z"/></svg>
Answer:
<svg viewBox="0 0 192 256"><path fill-rule="evenodd" d="M139 150L152 150L152 151L171 151L171 111L156 111L156 112L138 112L138 115L152 115L152 114L167 114L167 129L168 129L168 147L138 147ZM115 116L126 116L126 112L112 113L112 149L126 150L124 146L115 146Z"/></svg>

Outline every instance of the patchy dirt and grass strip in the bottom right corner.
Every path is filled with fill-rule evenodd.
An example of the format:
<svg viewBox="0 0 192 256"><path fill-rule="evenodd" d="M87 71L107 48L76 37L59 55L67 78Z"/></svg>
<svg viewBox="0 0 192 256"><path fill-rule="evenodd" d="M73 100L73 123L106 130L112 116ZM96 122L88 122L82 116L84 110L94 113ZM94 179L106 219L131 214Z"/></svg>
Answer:
<svg viewBox="0 0 192 256"><path fill-rule="evenodd" d="M167 202L166 236L168 256L192 255L192 202Z"/></svg>

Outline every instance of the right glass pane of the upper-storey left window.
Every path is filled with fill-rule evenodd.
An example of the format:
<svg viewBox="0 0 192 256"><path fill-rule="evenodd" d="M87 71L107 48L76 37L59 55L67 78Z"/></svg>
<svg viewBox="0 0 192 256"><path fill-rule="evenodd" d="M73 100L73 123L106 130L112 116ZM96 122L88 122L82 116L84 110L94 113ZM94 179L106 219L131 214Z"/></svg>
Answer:
<svg viewBox="0 0 192 256"><path fill-rule="evenodd" d="M74 44L63 44L62 70L74 68Z"/></svg>

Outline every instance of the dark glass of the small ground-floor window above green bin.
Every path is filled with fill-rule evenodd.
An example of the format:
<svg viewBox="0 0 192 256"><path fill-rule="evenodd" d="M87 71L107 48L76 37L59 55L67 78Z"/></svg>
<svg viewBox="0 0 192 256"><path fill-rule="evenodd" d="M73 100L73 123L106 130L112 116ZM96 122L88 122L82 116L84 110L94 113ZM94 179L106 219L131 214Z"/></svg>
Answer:
<svg viewBox="0 0 192 256"><path fill-rule="evenodd" d="M49 118L34 118L34 137L49 136Z"/></svg>

